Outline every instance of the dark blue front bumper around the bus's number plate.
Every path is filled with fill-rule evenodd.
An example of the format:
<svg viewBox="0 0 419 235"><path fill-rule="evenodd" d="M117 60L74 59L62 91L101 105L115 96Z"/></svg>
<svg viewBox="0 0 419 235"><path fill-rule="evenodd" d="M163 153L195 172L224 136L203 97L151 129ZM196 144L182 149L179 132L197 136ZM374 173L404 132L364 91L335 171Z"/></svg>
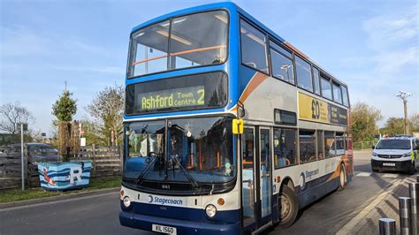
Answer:
<svg viewBox="0 0 419 235"><path fill-rule="evenodd" d="M199 221L187 221L173 218L146 216L133 212L121 211L119 223L126 227L151 231L152 224L175 227L177 234L240 234L240 222L236 224L209 224Z"/></svg>

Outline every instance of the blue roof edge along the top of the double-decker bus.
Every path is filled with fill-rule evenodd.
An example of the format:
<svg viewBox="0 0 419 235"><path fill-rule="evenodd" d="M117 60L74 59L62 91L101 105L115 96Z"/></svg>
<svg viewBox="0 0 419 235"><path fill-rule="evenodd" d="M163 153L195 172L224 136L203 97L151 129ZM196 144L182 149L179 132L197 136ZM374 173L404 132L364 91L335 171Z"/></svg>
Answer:
<svg viewBox="0 0 419 235"><path fill-rule="evenodd" d="M150 20L148 20L148 21L146 21L146 22L144 22L144 23L142 23L142 24L140 24L136 27L133 27L133 30L132 30L131 33L141 29L142 27L149 26L151 24L163 21L164 19L169 19L171 17L188 14L188 13L191 13L191 12L194 12L194 11L209 11L209 10L217 10L217 9L222 9L222 8L225 8L228 11L238 11L241 15L243 15L244 17L246 17L247 19L252 21L257 27L260 27L266 33L270 34L271 37L275 38L279 42L283 42L286 45L286 47L288 47L289 49L292 49L293 52L295 52L296 54L299 54L301 57L306 58L307 60L309 60L310 63L314 64L317 68L322 70L322 72L325 72L327 75L331 76L334 80L339 81L340 84L343 84L347 87L347 84L345 82L339 80L331 72L328 72L327 70L325 70L324 67L322 67L320 64L317 64L315 61L313 61L306 54L301 52L301 50L295 48L290 42L286 42L286 40L284 38L282 38L281 36L279 36L278 34L273 32L272 30L270 30L269 27L266 27L262 22L255 19L247 11L244 11L243 9L241 9L240 6L238 6L237 4L231 3L231 2L221 2L221 3L216 3L216 4L203 4L203 5L198 5L198 6L182 9L182 10L179 10L179 11L172 11L170 13L164 14L160 17L155 18L155 19L150 19Z"/></svg>

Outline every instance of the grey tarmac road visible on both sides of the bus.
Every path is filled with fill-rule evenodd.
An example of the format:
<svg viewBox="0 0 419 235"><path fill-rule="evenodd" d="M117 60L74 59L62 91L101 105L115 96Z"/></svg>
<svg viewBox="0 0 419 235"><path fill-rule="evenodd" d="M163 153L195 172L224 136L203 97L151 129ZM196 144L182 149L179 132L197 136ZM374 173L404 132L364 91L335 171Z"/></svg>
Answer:
<svg viewBox="0 0 419 235"><path fill-rule="evenodd" d="M354 180L301 211L293 226L270 234L334 234L401 173L372 173L370 152L356 153ZM0 209L0 234L151 234L119 225L118 194Z"/></svg>

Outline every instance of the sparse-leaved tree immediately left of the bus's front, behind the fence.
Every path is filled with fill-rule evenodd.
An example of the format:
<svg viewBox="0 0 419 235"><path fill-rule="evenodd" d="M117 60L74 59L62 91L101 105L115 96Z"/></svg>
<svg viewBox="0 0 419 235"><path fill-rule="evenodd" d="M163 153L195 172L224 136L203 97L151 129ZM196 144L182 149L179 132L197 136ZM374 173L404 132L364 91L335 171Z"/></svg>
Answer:
<svg viewBox="0 0 419 235"><path fill-rule="evenodd" d="M117 84L105 87L95 96L86 110L101 126L100 132L106 139L105 142L118 145L122 139L118 133L122 130L124 87Z"/></svg>

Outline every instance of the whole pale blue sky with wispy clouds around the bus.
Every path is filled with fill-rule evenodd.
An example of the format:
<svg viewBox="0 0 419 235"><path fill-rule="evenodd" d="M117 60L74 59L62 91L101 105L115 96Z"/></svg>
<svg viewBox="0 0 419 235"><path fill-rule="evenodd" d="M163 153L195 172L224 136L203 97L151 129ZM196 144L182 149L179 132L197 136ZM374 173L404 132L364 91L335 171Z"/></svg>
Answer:
<svg viewBox="0 0 419 235"><path fill-rule="evenodd" d="M65 88L76 119L104 87L124 84L133 27L171 11L215 1L0 0L0 104L20 102L34 130L51 132L52 104ZM219 2L219 1L217 1ZM400 91L419 113L419 6L415 0L232 1L367 102L403 117Z"/></svg>

